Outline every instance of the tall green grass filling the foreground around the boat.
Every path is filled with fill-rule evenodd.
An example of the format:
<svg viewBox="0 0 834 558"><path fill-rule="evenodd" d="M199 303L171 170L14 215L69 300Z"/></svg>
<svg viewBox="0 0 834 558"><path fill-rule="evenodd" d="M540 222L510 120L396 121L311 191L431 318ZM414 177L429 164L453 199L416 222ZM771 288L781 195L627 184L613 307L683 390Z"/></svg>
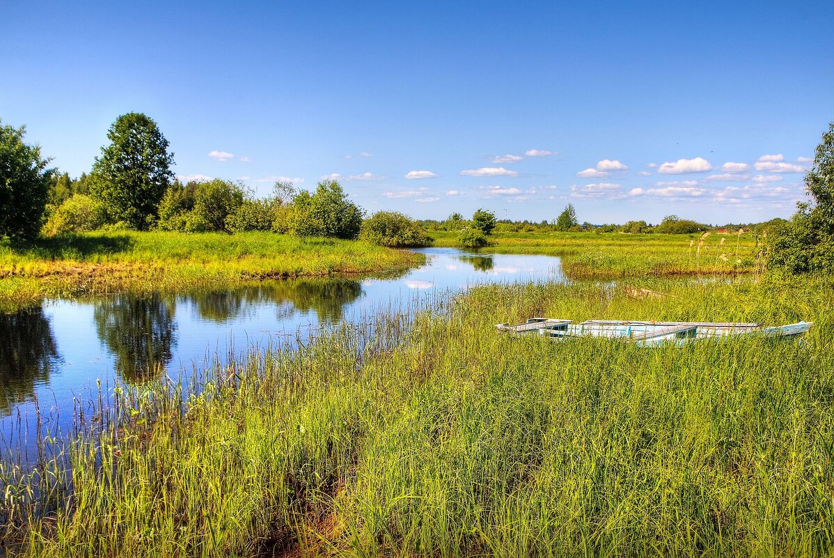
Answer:
<svg viewBox="0 0 834 558"><path fill-rule="evenodd" d="M479 287L214 370L184 407L138 390L73 445L73 499L7 540L28 556L831 555L831 279L632 284L667 295ZM531 315L816 325L802 343L658 349L495 332ZM13 483L7 512L26 499Z"/></svg>

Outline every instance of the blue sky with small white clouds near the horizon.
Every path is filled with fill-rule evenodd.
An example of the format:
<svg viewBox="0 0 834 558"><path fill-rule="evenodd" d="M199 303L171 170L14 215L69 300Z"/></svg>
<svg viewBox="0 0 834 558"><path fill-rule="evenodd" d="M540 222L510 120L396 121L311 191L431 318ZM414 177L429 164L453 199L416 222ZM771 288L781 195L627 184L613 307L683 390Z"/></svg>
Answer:
<svg viewBox="0 0 834 558"><path fill-rule="evenodd" d="M0 3L0 118L88 172L143 112L175 173L338 175L373 213L789 216L834 120L834 2Z"/></svg>

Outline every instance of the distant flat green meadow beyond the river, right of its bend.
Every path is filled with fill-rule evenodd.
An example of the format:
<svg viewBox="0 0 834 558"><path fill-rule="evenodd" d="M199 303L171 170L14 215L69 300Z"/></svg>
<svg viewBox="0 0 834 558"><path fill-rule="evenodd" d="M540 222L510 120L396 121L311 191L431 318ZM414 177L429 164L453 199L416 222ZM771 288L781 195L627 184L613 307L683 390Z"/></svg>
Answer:
<svg viewBox="0 0 834 558"><path fill-rule="evenodd" d="M433 231L437 246L458 233ZM751 273L761 244L744 234L497 233L484 252L560 256L571 279Z"/></svg>

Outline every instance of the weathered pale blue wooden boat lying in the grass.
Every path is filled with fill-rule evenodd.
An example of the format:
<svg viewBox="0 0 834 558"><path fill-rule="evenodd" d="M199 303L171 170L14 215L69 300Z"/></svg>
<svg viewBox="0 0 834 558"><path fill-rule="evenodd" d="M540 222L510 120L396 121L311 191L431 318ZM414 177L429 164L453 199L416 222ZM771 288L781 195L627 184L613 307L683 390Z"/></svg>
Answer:
<svg viewBox="0 0 834 558"><path fill-rule="evenodd" d="M531 318L524 324L498 324L499 331L513 334L540 334L551 339L606 337L627 339L643 346L686 344L698 339L729 336L792 337L806 333L813 322L762 327L759 323L737 322L651 322L589 319L574 324L570 319Z"/></svg>

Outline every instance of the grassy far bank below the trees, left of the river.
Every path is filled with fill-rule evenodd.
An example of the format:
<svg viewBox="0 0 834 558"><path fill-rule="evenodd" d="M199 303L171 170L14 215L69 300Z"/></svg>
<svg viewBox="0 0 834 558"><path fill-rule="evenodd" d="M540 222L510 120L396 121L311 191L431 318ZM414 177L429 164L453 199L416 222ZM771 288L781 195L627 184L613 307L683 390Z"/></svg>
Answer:
<svg viewBox="0 0 834 558"><path fill-rule="evenodd" d="M0 244L0 310L49 296L223 288L260 279L370 274L423 257L359 241L271 233L89 233Z"/></svg>

